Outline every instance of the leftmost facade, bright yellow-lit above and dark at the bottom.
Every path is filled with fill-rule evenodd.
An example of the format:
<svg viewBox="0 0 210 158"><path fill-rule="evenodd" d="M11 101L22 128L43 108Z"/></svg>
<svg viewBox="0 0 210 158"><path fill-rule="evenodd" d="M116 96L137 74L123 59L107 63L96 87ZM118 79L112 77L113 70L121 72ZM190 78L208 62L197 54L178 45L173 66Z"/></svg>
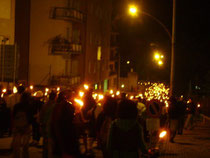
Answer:
<svg viewBox="0 0 210 158"><path fill-rule="evenodd" d="M15 82L15 0L0 0L0 82Z"/></svg>

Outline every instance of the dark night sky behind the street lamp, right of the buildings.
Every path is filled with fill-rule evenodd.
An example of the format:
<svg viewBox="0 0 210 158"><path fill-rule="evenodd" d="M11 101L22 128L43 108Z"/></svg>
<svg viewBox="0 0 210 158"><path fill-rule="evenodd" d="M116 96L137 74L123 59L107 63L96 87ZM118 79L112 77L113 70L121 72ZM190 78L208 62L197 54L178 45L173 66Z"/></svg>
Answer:
<svg viewBox="0 0 210 158"><path fill-rule="evenodd" d="M139 1L142 10L158 18L171 31L172 0ZM121 0L116 0L116 3L118 8L122 5ZM187 93L190 80L197 84L210 70L209 23L207 1L177 0L175 87L179 94ZM124 18L119 24L122 61L131 60L131 66L139 73L139 79L169 81L170 39L164 29L147 16L139 16L138 20ZM156 46L151 47L150 43ZM155 48L166 56L162 68L158 68L152 61ZM124 64L121 71L125 72L127 67Z"/></svg>

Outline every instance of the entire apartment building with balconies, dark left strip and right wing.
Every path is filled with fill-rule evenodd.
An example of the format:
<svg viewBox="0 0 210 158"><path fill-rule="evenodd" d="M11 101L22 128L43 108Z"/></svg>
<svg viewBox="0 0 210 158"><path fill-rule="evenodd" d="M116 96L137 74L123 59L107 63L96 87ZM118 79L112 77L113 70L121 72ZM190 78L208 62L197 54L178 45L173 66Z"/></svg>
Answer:
<svg viewBox="0 0 210 158"><path fill-rule="evenodd" d="M109 85L112 0L16 0L20 80Z"/></svg>

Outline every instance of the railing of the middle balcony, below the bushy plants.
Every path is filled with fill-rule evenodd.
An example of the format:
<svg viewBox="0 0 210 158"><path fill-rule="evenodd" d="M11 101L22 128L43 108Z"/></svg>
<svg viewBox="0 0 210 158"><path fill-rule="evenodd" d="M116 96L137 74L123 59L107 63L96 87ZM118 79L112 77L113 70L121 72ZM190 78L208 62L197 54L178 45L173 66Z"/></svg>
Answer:
<svg viewBox="0 0 210 158"><path fill-rule="evenodd" d="M51 54L53 55L63 55L63 54L81 54L82 45L73 43L56 43L51 44Z"/></svg>

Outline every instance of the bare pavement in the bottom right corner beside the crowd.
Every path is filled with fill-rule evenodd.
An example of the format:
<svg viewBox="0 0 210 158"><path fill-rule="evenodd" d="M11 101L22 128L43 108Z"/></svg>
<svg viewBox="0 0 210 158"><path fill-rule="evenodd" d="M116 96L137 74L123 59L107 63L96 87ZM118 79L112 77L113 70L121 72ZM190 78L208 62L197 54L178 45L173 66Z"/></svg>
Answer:
<svg viewBox="0 0 210 158"><path fill-rule="evenodd" d="M210 123L197 125L193 130L177 135L168 143L163 158L210 158Z"/></svg>

